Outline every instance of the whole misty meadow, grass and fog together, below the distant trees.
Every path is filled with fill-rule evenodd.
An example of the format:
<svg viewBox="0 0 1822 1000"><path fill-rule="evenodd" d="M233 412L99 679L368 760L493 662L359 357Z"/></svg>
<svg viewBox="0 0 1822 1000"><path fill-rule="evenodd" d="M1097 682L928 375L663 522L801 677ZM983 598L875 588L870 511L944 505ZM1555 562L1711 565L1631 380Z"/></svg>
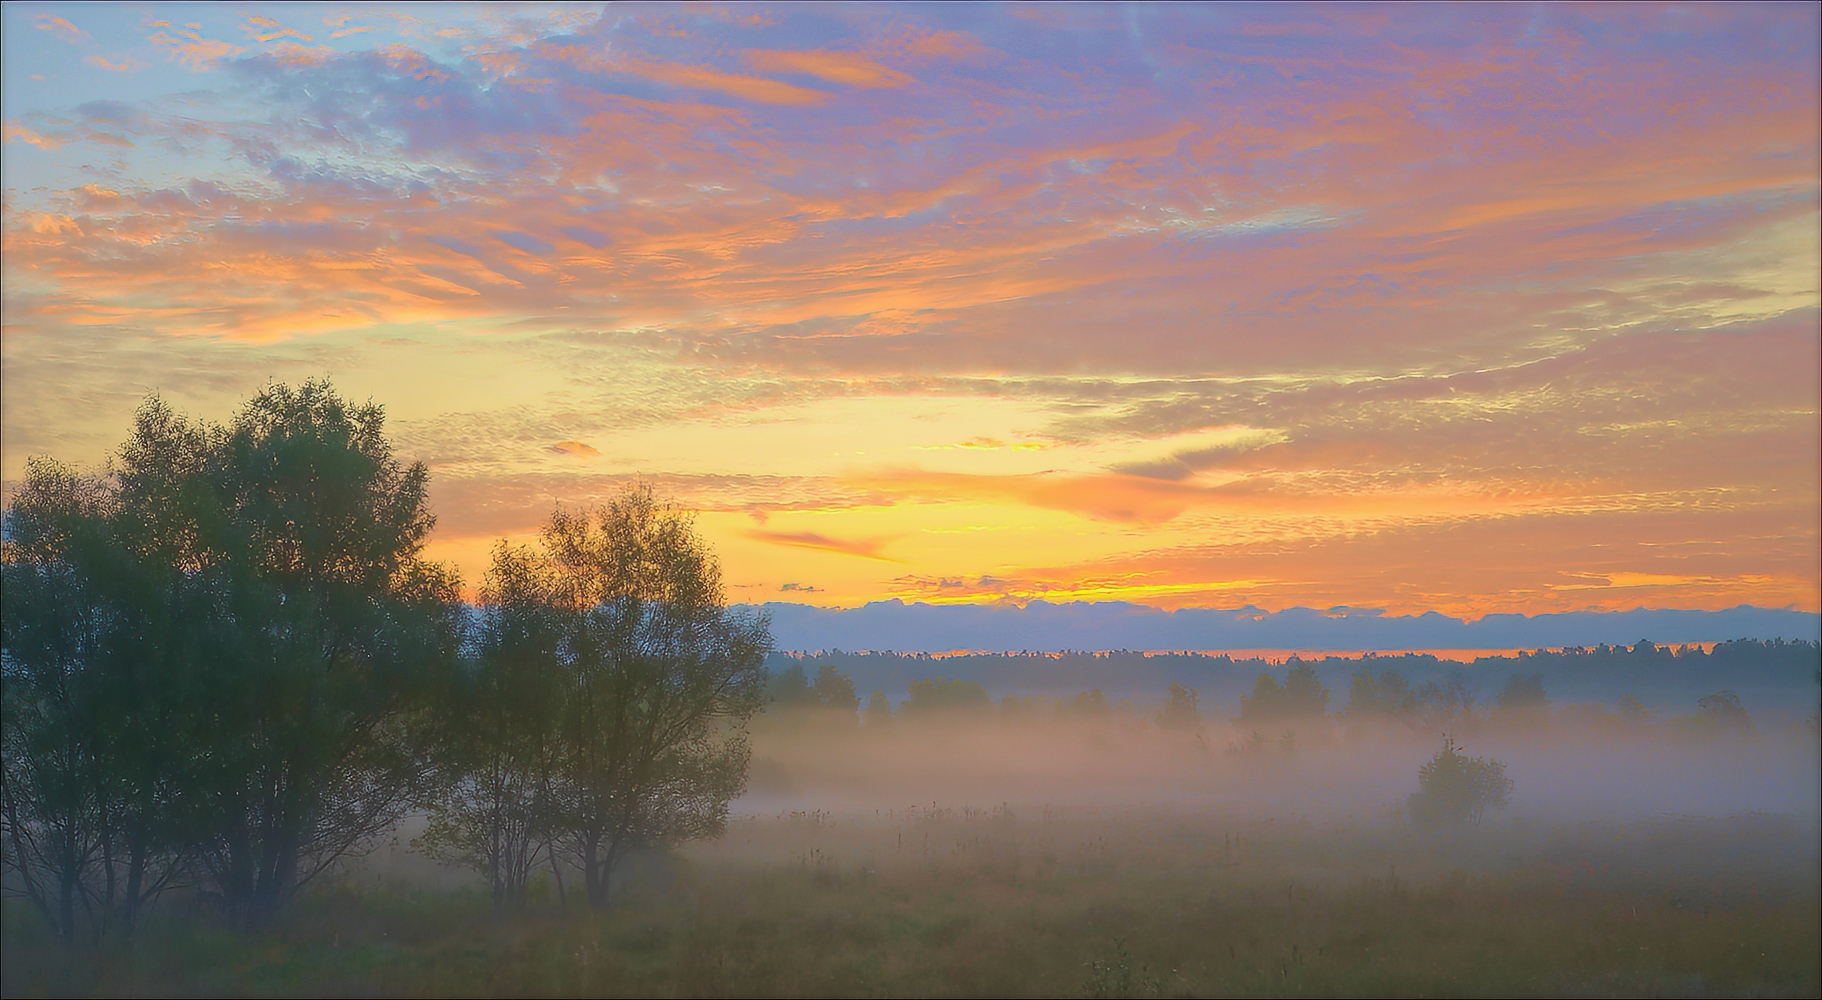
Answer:
<svg viewBox="0 0 1822 1000"><path fill-rule="evenodd" d="M66 949L7 903L4 991L1822 991L1813 736L1691 740L1587 716L1483 721L1470 749L1510 760L1518 794L1439 832L1399 807L1428 738L1396 729L1250 750L1226 727L1172 734L1121 714L871 732L762 716L758 787L727 832L634 856L605 914L574 871L541 871L525 911L499 916L463 872L414 854L406 829L259 933L175 894L131 945ZM1600 787L1616 791L1605 809Z"/></svg>

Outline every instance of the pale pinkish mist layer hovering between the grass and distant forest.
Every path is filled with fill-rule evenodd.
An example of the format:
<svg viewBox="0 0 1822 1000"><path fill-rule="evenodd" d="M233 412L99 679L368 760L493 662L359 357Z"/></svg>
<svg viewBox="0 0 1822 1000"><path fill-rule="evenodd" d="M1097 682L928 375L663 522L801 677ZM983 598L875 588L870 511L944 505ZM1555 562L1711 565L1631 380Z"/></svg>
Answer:
<svg viewBox="0 0 1822 1000"><path fill-rule="evenodd" d="M1046 718L1053 709L1008 716L991 707L858 729L762 718L751 785L732 809L1153 805L1397 823L1419 765L1450 729L1472 754L1507 765L1514 792L1500 823L1818 811L1817 743L1800 727L1716 741L1667 723L1625 723L1611 709L1594 714L1602 709L1529 725L1436 729L1221 719L1193 734L1159 730L1137 709L1084 718L1064 707L1060 718Z"/></svg>

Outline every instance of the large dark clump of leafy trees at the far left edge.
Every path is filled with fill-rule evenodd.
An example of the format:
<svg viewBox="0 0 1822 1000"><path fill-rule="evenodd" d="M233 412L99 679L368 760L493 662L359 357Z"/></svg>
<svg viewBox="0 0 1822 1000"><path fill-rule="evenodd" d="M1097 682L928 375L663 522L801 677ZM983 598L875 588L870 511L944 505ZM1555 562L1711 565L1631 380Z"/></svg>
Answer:
<svg viewBox="0 0 1822 1000"><path fill-rule="evenodd" d="M408 803L457 605L383 423L326 383L230 426L151 399L106 475L33 464L5 514L5 840L66 934L179 871L257 923Z"/></svg>

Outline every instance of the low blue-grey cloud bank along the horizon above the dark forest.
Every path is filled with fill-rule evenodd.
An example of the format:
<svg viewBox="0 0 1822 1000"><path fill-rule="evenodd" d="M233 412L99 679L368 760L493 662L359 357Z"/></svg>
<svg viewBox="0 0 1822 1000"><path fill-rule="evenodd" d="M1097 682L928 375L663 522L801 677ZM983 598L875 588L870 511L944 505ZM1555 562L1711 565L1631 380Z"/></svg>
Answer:
<svg viewBox="0 0 1822 1000"><path fill-rule="evenodd" d="M1634 608L1623 612L1387 616L1363 608L1177 608L1124 601L1031 601L1017 607L875 601L860 608L745 605L773 619L780 650L893 652L1062 650L1308 650L1394 652L1443 648L1560 648L1718 643L1727 639L1822 639L1822 616L1740 605L1725 610Z"/></svg>

